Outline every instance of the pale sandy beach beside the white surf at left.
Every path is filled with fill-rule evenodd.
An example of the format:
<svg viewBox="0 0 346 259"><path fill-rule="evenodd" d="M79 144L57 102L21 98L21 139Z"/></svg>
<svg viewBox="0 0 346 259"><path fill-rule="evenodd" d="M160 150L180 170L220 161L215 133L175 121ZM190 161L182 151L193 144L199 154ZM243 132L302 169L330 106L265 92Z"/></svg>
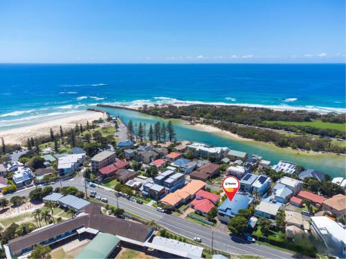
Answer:
<svg viewBox="0 0 346 259"><path fill-rule="evenodd" d="M6 144L25 144L28 137L49 135L51 128L54 132L59 132L60 126L62 126L63 129L73 128L76 123L86 124L86 121L90 123L94 119L99 119L100 117L105 118L106 115L94 111L84 111L66 117L49 119L46 122L39 122L35 125L0 131L0 137L3 137Z"/></svg>

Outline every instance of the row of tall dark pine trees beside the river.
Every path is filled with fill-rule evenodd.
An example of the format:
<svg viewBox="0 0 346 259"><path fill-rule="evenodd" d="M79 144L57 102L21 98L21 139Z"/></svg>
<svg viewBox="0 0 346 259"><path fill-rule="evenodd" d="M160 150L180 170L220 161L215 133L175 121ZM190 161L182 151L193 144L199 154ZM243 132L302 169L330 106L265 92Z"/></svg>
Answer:
<svg viewBox="0 0 346 259"><path fill-rule="evenodd" d="M132 122L129 121L127 124L127 134L129 135L129 140L135 140L140 142L176 142L176 133L174 131L174 126L172 121L169 121L167 125L163 122L156 122L149 124L147 129L147 124L144 122Z"/></svg>

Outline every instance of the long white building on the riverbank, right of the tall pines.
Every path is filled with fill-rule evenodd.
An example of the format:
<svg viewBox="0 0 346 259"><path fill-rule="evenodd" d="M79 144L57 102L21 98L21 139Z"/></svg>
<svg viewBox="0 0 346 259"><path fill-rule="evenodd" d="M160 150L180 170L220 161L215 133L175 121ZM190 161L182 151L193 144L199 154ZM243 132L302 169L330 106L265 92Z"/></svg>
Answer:
<svg viewBox="0 0 346 259"><path fill-rule="evenodd" d="M210 147L207 144L194 142L186 146L187 150L194 152L196 157L206 157L208 159L221 160L225 155L227 155L229 149L227 147Z"/></svg>

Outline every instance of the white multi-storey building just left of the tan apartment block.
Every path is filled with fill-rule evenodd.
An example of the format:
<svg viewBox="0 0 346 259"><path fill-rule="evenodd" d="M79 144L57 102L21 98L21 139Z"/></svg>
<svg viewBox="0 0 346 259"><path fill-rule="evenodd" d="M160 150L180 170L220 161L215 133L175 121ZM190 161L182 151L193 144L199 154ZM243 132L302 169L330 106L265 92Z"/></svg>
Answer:
<svg viewBox="0 0 346 259"><path fill-rule="evenodd" d="M60 176L71 175L86 160L85 154L68 154L57 160L57 172Z"/></svg>

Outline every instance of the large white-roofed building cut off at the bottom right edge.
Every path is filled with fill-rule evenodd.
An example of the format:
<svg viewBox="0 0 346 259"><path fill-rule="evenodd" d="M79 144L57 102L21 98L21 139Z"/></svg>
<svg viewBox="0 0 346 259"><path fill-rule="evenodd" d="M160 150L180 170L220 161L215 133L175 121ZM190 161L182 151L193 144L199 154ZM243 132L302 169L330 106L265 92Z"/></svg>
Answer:
<svg viewBox="0 0 346 259"><path fill-rule="evenodd" d="M325 242L327 247L334 249L336 256L346 255L346 230L328 217L311 217L311 228Z"/></svg>

